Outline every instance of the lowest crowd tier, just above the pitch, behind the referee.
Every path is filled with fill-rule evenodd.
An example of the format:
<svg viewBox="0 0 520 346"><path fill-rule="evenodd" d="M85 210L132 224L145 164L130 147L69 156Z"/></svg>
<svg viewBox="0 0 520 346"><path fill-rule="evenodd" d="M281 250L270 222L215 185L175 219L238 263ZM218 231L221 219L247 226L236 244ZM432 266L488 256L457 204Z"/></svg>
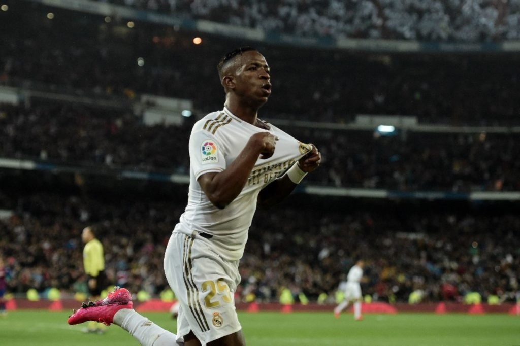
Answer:
<svg viewBox="0 0 520 346"><path fill-rule="evenodd" d="M0 221L0 248L11 273L8 291L84 289L80 234L95 224L110 283L158 295L167 287L162 259L184 208L180 199L111 204L86 196L18 196L15 214ZM375 300L408 301L417 290L423 301L458 301L467 292L513 300L520 277L518 215L430 207L259 210L237 294L276 301L285 287L313 301L322 293L333 297L361 257L368 263L363 292Z"/></svg>

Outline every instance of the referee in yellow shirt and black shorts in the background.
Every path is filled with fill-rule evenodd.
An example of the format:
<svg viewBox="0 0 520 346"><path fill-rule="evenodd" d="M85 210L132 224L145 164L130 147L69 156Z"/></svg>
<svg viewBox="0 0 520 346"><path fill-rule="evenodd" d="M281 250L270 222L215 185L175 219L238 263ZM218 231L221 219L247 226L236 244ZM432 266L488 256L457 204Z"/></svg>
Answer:
<svg viewBox="0 0 520 346"><path fill-rule="evenodd" d="M83 267L88 277L87 285L90 292L90 301L99 300L101 291L106 288L105 254L103 244L96 238L92 227L85 227L81 233L81 239L85 243L83 248ZM105 325L97 322L89 322L85 332L97 332L102 334Z"/></svg>

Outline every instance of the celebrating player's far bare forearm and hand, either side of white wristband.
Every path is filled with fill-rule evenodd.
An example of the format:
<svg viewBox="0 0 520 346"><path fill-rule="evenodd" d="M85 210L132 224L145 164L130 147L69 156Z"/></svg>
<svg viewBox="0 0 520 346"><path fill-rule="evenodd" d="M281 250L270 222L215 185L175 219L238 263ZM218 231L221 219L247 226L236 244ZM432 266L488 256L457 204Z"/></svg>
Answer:
<svg viewBox="0 0 520 346"><path fill-rule="evenodd" d="M319 152L316 145L311 144L313 150L298 160L296 165L305 173L314 171L319 167L321 163L321 153ZM271 182L265 187L258 195L258 205L264 208L270 208L279 202L283 198L289 196L291 192L296 188L297 183L293 182L288 174L284 174L280 178Z"/></svg>

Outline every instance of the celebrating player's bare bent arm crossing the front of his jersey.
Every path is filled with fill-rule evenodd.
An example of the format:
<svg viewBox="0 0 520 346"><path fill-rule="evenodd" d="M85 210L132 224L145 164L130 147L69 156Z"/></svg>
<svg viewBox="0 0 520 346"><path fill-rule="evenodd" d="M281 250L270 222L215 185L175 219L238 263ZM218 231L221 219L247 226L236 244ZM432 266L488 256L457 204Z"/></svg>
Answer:
<svg viewBox="0 0 520 346"><path fill-rule="evenodd" d="M209 172L197 180L207 198L224 209L240 194L258 157L265 159L275 152L276 137L269 132L251 136L239 156L222 172Z"/></svg>

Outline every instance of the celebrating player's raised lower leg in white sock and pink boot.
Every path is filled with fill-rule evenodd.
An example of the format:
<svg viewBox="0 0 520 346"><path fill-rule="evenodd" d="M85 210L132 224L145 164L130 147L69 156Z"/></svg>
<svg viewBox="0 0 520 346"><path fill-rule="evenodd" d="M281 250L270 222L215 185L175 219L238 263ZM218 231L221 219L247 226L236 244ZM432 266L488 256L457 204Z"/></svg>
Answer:
<svg viewBox="0 0 520 346"><path fill-rule="evenodd" d="M143 346L172 346L176 335L154 324L133 309L132 295L126 288L110 292L107 298L96 302L83 303L81 309L69 316L70 325L87 321L115 324L128 331Z"/></svg>

